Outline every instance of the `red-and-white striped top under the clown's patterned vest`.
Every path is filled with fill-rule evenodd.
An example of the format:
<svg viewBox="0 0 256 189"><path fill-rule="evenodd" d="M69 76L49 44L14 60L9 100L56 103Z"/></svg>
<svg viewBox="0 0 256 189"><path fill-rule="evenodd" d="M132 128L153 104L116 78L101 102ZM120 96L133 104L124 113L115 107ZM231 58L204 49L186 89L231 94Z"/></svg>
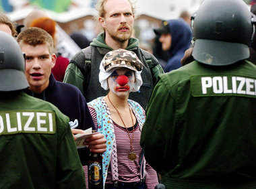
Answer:
<svg viewBox="0 0 256 189"><path fill-rule="evenodd" d="M94 120L94 125L96 128L97 124L97 115L94 108L89 107L90 113L92 115L92 119ZM137 124L137 121L134 125L134 139L133 139L133 152L137 155L135 161L131 161L128 159L128 155L131 152L131 143L129 139L129 135L133 137L133 127L130 127L129 135L125 128L117 125L115 121L113 121L114 129L115 129L115 138L117 143L117 160L118 160L118 172L119 172L119 181L121 182L139 182L139 160L141 158L141 147L139 145L141 131ZM113 183L111 168L108 168L108 175L106 177L106 183ZM155 188L156 184L158 184L158 177L156 171L151 168L148 164L146 164L146 185L148 188Z"/></svg>

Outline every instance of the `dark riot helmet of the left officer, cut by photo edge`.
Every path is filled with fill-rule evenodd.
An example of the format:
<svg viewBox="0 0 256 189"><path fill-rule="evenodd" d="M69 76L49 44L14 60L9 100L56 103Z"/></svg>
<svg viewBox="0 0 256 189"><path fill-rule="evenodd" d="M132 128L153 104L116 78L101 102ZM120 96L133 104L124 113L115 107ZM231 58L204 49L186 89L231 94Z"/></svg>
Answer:
<svg viewBox="0 0 256 189"><path fill-rule="evenodd" d="M18 42L0 31L0 91L28 88L25 60Z"/></svg>

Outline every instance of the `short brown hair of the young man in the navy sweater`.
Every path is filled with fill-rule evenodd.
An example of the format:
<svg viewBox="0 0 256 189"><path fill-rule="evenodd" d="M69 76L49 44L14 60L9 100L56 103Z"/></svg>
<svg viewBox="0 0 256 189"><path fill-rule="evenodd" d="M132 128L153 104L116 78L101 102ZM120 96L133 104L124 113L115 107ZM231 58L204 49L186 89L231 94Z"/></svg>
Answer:
<svg viewBox="0 0 256 189"><path fill-rule="evenodd" d="M53 38L47 31L39 27L28 27L22 31L17 37L17 42L19 44L24 43L34 47L46 44L49 48L49 53L53 54Z"/></svg>

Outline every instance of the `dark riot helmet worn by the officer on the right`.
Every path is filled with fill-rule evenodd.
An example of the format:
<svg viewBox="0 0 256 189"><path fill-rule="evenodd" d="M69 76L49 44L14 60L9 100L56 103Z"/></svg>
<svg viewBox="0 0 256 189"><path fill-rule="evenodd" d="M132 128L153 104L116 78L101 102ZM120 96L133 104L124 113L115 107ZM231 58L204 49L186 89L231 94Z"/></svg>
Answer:
<svg viewBox="0 0 256 189"><path fill-rule="evenodd" d="M255 15L243 0L205 0L191 19L198 62L224 66L249 57Z"/></svg>

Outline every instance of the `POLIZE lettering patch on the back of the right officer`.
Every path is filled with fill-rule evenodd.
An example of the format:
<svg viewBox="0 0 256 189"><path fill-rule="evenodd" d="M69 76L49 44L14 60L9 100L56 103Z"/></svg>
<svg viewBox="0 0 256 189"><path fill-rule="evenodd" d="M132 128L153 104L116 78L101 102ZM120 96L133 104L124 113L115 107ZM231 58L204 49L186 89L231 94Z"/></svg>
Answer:
<svg viewBox="0 0 256 189"><path fill-rule="evenodd" d="M241 76L192 76L192 95L242 95L256 97L256 79Z"/></svg>

